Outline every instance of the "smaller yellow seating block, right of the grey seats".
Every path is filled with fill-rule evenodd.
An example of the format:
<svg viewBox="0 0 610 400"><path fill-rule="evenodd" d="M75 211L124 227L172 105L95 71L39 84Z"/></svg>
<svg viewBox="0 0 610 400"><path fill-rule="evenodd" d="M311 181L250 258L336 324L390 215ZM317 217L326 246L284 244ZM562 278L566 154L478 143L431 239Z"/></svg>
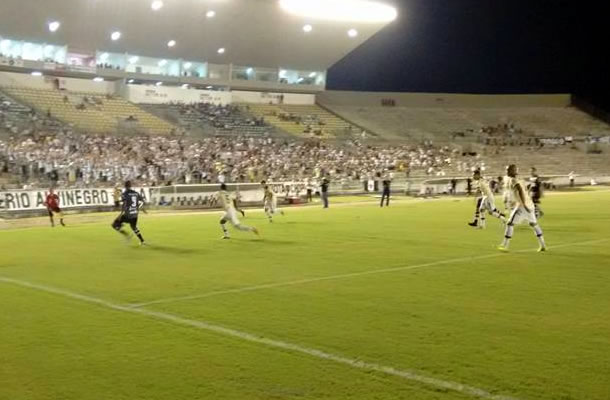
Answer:
<svg viewBox="0 0 610 400"><path fill-rule="evenodd" d="M341 137L361 132L355 125L319 105L244 104L243 107L295 136Z"/></svg>

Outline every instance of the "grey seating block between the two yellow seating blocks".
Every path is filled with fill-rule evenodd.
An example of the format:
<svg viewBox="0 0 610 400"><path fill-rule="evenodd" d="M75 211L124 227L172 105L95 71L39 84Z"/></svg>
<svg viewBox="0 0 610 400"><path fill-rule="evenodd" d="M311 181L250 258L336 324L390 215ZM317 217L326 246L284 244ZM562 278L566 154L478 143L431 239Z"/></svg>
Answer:
<svg viewBox="0 0 610 400"><path fill-rule="evenodd" d="M183 129L201 131L204 135L261 136L274 131L264 118L246 114L233 105L195 104L143 104L151 114L172 121Z"/></svg>

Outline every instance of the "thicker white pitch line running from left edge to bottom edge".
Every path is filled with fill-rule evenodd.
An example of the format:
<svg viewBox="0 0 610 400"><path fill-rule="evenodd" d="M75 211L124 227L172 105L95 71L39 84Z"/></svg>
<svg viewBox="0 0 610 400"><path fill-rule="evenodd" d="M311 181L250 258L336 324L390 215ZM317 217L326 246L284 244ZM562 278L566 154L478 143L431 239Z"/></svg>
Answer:
<svg viewBox="0 0 610 400"><path fill-rule="evenodd" d="M435 387L437 389L445 389L452 390L455 392L463 393L468 396L473 396L481 399L489 399L489 400L518 400L515 397L511 396L503 396L498 394L493 394L485 389L480 389L478 387L465 385L458 382L447 381L443 379L433 378L425 375L420 375L419 373L409 371L409 370L400 370L394 367L388 367L376 363L369 363L366 361L353 359L344 357L341 355L328 353L326 351L317 350L310 347L301 346L294 343L284 342L280 340L268 339L265 337L261 337L252 333L238 331L231 328L225 328L223 326L211 324L205 321L197 321L193 319L188 319L181 317L175 314L169 314L164 312L147 310L144 308L132 308L126 307L120 304L116 304L110 301L106 301L103 299L99 299L96 297L91 297L79 293L74 293L71 291L67 291L64 289L59 289L51 286L46 286L42 284L36 284L32 282L27 282L18 279L0 277L0 282L12 284L15 286L21 286L28 289L37 290L40 292L52 293L55 295L68 297L74 300L79 300L89 304L95 304L101 307L105 307L115 311L121 311L125 313L139 314L146 317L150 317L156 320L166 321L173 323L175 325L180 326L188 326L195 329L213 332L219 335L229 336L236 339L244 340L247 342L258 343L268 347L279 348L282 350L288 350L295 353L305 354L311 357L315 357L322 360L333 361L335 363L347 365L352 368L362 369L366 371L375 371L379 373L383 373L386 375L395 376L398 378L402 378L408 381L423 383L425 385Z"/></svg>

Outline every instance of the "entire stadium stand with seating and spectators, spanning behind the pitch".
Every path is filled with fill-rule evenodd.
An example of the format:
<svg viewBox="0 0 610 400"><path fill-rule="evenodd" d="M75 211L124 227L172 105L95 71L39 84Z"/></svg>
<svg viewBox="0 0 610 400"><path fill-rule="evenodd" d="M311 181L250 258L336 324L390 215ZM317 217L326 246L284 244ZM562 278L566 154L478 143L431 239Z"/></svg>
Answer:
<svg viewBox="0 0 610 400"><path fill-rule="evenodd" d="M17 86L0 92L0 104L4 185L153 185L221 176L354 183L390 172L465 177L475 167L500 175L515 162L545 175L593 176L610 165L606 148L587 140L610 137L610 128L573 107L135 105L118 95ZM361 135L361 127L380 135ZM188 134L164 135L178 131ZM289 136L274 138L278 132Z"/></svg>

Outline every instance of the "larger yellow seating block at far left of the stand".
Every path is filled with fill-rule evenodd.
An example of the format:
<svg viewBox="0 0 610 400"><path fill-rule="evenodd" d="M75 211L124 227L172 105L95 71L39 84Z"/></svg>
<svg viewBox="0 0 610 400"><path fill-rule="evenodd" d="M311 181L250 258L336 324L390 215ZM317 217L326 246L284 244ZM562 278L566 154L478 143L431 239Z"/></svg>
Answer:
<svg viewBox="0 0 610 400"><path fill-rule="evenodd" d="M175 129L119 96L25 87L5 87L3 91L84 132L168 134Z"/></svg>

